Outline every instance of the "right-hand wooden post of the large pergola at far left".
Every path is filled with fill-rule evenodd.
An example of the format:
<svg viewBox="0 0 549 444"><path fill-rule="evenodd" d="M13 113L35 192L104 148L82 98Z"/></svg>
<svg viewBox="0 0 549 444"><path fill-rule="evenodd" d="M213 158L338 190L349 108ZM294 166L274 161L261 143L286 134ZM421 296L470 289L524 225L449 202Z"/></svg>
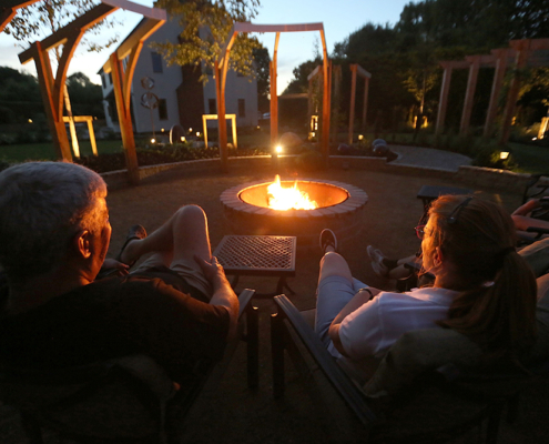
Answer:
<svg viewBox="0 0 549 444"><path fill-rule="evenodd" d="M135 152L135 139L133 138L132 117L130 112L130 101L124 98L124 72L122 62L119 60L116 52L110 57L112 69L112 87L114 99L116 101L116 112L119 115L120 133L122 135L122 145L124 148L125 164L128 168L128 180L132 185L140 181L138 154ZM128 103L128 104L126 104Z"/></svg>

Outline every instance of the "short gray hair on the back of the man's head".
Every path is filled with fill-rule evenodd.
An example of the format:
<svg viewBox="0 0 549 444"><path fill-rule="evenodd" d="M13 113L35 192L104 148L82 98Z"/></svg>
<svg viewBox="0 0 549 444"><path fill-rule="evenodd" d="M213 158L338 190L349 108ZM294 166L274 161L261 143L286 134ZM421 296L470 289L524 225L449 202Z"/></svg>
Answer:
<svg viewBox="0 0 549 444"><path fill-rule="evenodd" d="M29 162L0 172L0 263L10 281L52 270L80 230L101 230L106 214L95 211L96 200L105 195L103 179L74 163Z"/></svg>

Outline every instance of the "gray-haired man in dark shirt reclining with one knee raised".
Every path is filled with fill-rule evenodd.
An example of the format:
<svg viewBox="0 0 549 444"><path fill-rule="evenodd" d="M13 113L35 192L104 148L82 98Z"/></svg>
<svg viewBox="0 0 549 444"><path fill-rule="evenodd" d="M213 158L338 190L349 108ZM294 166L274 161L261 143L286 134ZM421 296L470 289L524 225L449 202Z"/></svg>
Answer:
<svg viewBox="0 0 549 444"><path fill-rule="evenodd" d="M205 214L187 205L149 238L131 232L119 258L151 258L96 280L111 238L105 196L102 178L73 163L0 173L0 361L57 369L146 354L191 384L199 362L221 359L238 313Z"/></svg>

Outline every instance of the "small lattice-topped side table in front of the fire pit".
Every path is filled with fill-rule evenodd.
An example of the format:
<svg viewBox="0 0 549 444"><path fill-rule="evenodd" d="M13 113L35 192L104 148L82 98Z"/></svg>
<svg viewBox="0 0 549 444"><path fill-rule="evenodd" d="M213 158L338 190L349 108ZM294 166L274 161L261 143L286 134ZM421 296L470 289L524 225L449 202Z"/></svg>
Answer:
<svg viewBox="0 0 549 444"><path fill-rule="evenodd" d="M278 235L226 235L213 255L217 258L226 274L234 274L235 287L241 275L278 278L274 293L255 293L256 297L272 297L284 289L295 294L286 278L295 276L295 251L297 238Z"/></svg>

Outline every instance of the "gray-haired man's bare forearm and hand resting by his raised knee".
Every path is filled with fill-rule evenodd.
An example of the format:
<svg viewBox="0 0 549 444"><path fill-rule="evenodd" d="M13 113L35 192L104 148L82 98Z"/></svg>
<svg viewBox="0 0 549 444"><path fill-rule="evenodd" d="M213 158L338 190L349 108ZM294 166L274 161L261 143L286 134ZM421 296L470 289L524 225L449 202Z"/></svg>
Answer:
<svg viewBox="0 0 549 444"><path fill-rule="evenodd" d="M227 341L236 336L236 323L238 320L238 297L228 283L223 266L217 262L217 258L212 256L211 262L202 258L194 256L202 268L205 278L212 284L213 294L210 304L224 306L228 311L230 325Z"/></svg>

